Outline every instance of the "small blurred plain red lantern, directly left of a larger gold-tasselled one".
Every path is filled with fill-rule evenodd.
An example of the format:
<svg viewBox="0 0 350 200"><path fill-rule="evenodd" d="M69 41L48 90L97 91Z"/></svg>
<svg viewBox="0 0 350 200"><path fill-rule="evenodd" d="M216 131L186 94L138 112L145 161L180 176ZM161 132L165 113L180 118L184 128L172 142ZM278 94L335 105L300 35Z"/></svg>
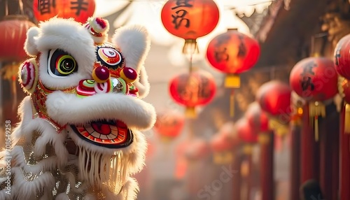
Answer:
<svg viewBox="0 0 350 200"><path fill-rule="evenodd" d="M269 118L266 113L261 110L258 102L251 103L246 110L246 120L256 132L269 131Z"/></svg>

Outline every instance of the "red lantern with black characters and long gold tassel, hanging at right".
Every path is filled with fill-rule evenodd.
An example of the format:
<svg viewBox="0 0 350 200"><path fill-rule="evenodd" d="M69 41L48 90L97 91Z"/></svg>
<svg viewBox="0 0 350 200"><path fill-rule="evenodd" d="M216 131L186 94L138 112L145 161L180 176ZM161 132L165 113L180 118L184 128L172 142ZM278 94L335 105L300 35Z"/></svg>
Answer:
<svg viewBox="0 0 350 200"><path fill-rule="evenodd" d="M290 71L290 87L309 102L309 116L314 120L314 133L318 141L318 117L325 117L322 101L337 94L337 72L331 59L308 57L297 62Z"/></svg>

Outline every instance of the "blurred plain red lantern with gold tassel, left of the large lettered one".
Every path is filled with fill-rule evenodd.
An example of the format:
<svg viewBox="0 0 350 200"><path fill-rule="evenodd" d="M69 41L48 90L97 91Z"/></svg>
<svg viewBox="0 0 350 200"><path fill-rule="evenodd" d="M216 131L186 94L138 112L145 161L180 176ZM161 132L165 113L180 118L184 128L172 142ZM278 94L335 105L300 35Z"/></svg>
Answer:
<svg viewBox="0 0 350 200"><path fill-rule="evenodd" d="M256 93L256 100L260 108L268 114L269 128L279 136L288 133L288 122L290 122L292 112L290 99L289 85L279 80L264 83Z"/></svg>

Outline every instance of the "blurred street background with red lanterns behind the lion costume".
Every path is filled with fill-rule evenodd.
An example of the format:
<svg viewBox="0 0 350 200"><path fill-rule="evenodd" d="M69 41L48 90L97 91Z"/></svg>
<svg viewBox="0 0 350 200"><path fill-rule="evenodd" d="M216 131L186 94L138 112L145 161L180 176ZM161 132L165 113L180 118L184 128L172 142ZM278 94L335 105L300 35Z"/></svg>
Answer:
<svg viewBox="0 0 350 200"><path fill-rule="evenodd" d="M73 2L80 13L64 6ZM17 108L27 95L17 75L27 56L25 32L50 17L54 11L48 8L55 4L82 23L88 16L104 17L110 36L129 24L143 24L151 35L145 64L151 92L145 101L158 118L144 131L148 152L144 170L135 176L138 199L297 200L300 187L314 179L324 199L349 200L349 134L343 127L350 122L344 121L346 88L338 90L340 75L346 76L338 77L333 65L339 40L350 33L349 1L177 0L170 7L167 2L0 0L0 127L5 120L18 122ZM176 18L170 9L176 5L204 11ZM172 27L186 27L186 20L207 32L189 36ZM186 52L188 46L184 51L185 41L196 41L197 52ZM223 64L229 56L237 63ZM319 71L300 63L307 58ZM349 60L343 62L347 71ZM304 73L315 79L308 82ZM316 94L313 87L324 90ZM314 107L321 110L309 110Z"/></svg>

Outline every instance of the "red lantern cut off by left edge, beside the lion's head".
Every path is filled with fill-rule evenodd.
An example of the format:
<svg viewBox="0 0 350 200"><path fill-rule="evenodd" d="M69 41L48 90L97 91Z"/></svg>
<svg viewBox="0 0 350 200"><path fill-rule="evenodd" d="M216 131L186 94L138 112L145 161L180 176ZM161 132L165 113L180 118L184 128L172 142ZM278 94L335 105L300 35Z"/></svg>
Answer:
<svg viewBox="0 0 350 200"><path fill-rule="evenodd" d="M22 62L28 58L23 49L27 30L34 27L23 15L7 15L0 22L0 62Z"/></svg>

